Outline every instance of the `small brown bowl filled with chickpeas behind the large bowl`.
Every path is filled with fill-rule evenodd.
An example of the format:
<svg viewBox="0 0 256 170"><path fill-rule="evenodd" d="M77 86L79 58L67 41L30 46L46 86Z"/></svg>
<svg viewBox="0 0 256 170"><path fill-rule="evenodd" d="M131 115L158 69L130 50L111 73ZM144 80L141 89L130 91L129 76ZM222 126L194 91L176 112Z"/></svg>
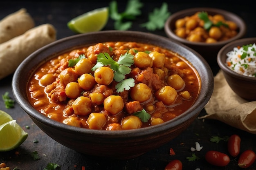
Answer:
<svg viewBox="0 0 256 170"><path fill-rule="evenodd" d="M191 8L173 13L165 23L166 35L200 53L209 64L217 64L225 44L243 38L246 24L240 16L223 9Z"/></svg>

